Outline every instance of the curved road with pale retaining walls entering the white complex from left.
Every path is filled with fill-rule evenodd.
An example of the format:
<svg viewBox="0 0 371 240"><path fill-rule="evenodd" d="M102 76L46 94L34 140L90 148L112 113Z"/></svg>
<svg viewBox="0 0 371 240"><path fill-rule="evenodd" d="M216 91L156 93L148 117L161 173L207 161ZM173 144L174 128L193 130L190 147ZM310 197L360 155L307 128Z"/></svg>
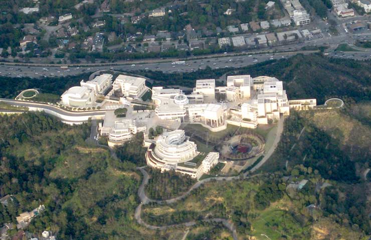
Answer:
<svg viewBox="0 0 371 240"><path fill-rule="evenodd" d="M45 113L53 115L62 120L62 122L68 124L80 124L88 121L89 119L103 119L106 114L105 109L75 112L40 102L28 102L6 98L0 98L0 102L18 107L28 107L29 111L44 111Z"/></svg>

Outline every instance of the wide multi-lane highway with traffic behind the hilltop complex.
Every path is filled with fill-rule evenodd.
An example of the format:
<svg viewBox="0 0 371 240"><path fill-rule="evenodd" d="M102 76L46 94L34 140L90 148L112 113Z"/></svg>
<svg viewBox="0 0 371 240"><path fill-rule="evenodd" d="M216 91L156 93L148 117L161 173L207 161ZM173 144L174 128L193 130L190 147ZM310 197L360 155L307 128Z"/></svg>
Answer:
<svg viewBox="0 0 371 240"><path fill-rule="evenodd" d="M243 54L243 52L241 53ZM336 54L332 54L333 53L332 51L330 53L331 57L335 57ZM208 59L189 60L186 61L185 64L171 64L171 62L159 62L143 64L122 64L112 67L107 66L69 67L68 69L62 69L60 67L12 66L0 64L0 76L30 77L30 78L63 77L109 69L124 72L135 70L152 70L162 71L165 73L193 72L198 69L205 69L207 66L213 69L228 67L245 67L256 63L261 63L267 60L289 58L295 54L296 52L225 56ZM365 60L371 58L371 52L346 52L338 57Z"/></svg>

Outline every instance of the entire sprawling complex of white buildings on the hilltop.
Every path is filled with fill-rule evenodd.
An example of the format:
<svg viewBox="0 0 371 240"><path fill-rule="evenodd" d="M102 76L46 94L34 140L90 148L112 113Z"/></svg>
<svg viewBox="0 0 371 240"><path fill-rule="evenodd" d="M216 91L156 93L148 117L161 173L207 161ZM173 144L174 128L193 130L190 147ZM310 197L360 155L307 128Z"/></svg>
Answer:
<svg viewBox="0 0 371 240"><path fill-rule="evenodd" d="M226 86L218 87L215 79L200 79L188 94L177 88L148 88L145 83L143 77L118 75L113 80L111 74L102 74L68 89L60 104L75 111L105 109L98 132L110 147L143 132L148 166L197 179L218 164L220 153L200 152L179 129L182 123L200 124L212 132L225 130L229 124L257 128L289 115L291 108L316 106L316 99L289 100L283 82L268 76L227 76ZM148 94L150 98L145 98ZM114 114L119 108L125 109L123 116ZM149 136L156 126L163 132Z"/></svg>

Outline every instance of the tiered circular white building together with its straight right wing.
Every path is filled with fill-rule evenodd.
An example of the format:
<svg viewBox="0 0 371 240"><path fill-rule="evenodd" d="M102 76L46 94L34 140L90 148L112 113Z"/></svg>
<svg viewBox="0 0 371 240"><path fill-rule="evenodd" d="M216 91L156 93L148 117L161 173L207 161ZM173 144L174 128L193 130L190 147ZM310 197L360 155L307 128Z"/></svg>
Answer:
<svg viewBox="0 0 371 240"><path fill-rule="evenodd" d="M175 170L199 179L218 163L219 153L206 157L197 151L196 143L189 140L183 130L165 132L152 143L145 155L147 165L161 171Z"/></svg>

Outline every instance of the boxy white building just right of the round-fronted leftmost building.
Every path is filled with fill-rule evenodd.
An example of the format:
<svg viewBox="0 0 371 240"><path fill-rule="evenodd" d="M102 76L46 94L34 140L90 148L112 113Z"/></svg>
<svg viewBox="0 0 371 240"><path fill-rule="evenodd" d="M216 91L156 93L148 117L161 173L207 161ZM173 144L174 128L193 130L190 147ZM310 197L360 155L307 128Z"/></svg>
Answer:
<svg viewBox="0 0 371 240"><path fill-rule="evenodd" d="M138 98L145 90L145 79L118 75L113 82L113 90L121 90L124 97Z"/></svg>

